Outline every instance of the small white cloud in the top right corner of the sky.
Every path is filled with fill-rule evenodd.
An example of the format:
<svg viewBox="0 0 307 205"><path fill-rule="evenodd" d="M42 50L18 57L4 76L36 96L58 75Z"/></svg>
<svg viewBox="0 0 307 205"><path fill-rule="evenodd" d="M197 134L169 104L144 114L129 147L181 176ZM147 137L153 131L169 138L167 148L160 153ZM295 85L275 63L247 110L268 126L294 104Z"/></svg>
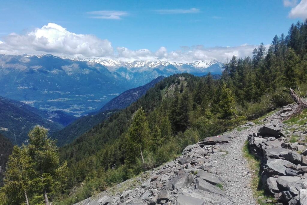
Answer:
<svg viewBox="0 0 307 205"><path fill-rule="evenodd" d="M299 4L297 1L284 0L284 6L290 6L292 9L289 12L290 18L307 18L307 0L301 0Z"/></svg>

